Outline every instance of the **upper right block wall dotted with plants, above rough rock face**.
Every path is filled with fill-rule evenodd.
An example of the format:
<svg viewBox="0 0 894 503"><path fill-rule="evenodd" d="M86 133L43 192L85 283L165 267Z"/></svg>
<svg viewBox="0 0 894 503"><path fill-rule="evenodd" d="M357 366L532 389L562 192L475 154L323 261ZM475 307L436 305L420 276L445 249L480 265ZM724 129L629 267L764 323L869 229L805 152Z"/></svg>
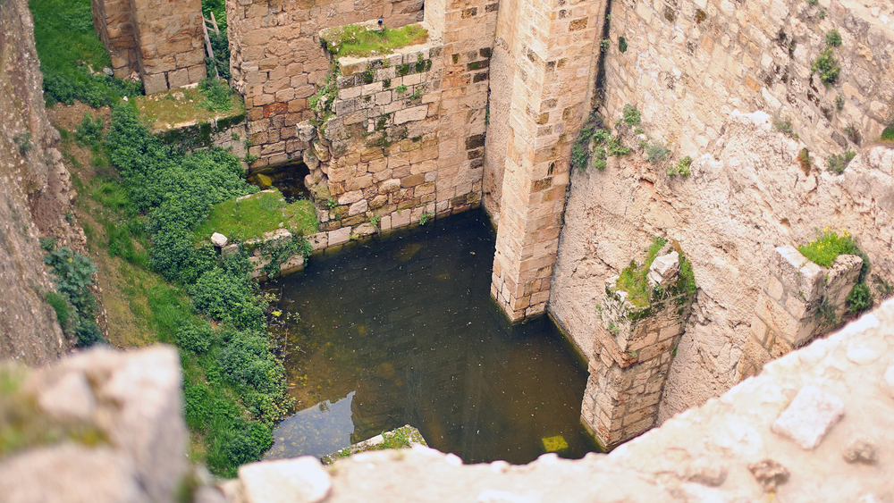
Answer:
<svg viewBox="0 0 894 503"><path fill-rule="evenodd" d="M894 119L894 22L878 17L883 3L874 16L864 4L873 3L615 1L604 112L613 121L636 105L644 129L679 157L713 151L734 109L790 118L822 158L855 149ZM841 71L827 87L811 64L831 29L843 43L832 50Z"/></svg>

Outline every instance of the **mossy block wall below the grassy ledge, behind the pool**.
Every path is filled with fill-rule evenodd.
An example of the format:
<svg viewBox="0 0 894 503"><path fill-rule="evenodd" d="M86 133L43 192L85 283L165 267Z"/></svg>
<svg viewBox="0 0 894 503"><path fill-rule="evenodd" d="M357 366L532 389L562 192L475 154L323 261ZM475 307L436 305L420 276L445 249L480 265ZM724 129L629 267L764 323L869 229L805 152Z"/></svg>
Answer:
<svg viewBox="0 0 894 503"><path fill-rule="evenodd" d="M332 114L316 111L325 123L305 155L328 245L342 228L334 244L375 231L372 219L388 231L479 205L493 42L481 30L495 16L485 4L435 6L425 44L333 62Z"/></svg>

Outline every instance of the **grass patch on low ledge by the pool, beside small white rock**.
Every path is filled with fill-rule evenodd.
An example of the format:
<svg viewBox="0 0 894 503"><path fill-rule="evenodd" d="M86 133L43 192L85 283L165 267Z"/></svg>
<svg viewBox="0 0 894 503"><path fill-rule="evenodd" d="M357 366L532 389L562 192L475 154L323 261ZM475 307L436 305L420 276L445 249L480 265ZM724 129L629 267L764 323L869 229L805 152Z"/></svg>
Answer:
<svg viewBox="0 0 894 503"><path fill-rule="evenodd" d="M301 199L286 204L278 190L261 192L239 202L224 201L211 209L207 221L198 224L194 240L200 243L210 239L215 232L240 241L258 239L265 232L275 231L280 223L293 234L308 236L316 233L313 203Z"/></svg>

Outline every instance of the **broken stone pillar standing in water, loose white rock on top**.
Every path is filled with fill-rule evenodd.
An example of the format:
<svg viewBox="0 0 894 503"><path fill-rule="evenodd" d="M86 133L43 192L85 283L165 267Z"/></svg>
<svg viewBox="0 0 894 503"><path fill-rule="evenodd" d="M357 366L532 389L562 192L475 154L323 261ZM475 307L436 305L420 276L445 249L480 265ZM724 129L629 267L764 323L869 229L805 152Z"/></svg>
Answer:
<svg viewBox="0 0 894 503"><path fill-rule="evenodd" d="M618 276L605 281L580 418L606 449L648 431L658 418L664 381L695 300L679 263L676 251L654 259L645 305L617 286Z"/></svg>

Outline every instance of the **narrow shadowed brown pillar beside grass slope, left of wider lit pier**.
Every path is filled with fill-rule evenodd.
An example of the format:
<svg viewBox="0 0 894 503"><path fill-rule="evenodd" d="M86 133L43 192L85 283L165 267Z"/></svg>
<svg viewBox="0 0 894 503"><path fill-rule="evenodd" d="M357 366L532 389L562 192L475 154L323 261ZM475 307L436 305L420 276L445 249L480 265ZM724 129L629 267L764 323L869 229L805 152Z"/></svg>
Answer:
<svg viewBox="0 0 894 503"><path fill-rule="evenodd" d="M112 59L115 77L130 77L137 71L137 40L134 38L130 0L92 0L90 4L93 27Z"/></svg>

